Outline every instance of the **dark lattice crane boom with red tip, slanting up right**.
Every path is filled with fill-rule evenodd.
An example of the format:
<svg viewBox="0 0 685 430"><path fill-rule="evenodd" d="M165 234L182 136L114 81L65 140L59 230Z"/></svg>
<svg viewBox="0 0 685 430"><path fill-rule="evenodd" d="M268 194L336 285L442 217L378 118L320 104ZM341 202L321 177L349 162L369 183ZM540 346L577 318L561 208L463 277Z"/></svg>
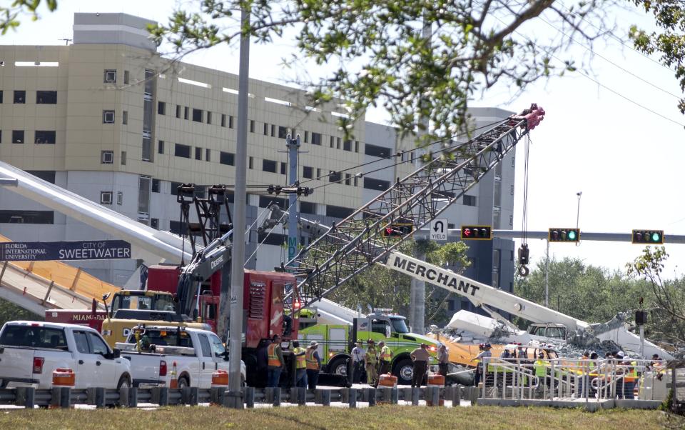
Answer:
<svg viewBox="0 0 685 430"><path fill-rule="evenodd" d="M397 179L390 189L333 224L283 267L303 279L298 284L300 306L326 296L384 259L477 184L543 117L544 110L533 104L522 114L510 116L404 179ZM407 226L411 226L409 234L392 235L392 230ZM391 234L385 234L386 230Z"/></svg>

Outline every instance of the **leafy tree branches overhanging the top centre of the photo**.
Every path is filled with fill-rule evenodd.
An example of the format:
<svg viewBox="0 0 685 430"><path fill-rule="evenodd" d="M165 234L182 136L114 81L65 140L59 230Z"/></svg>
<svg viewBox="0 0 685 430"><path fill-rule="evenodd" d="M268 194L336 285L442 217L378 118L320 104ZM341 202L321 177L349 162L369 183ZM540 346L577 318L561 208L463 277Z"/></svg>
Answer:
<svg viewBox="0 0 685 430"><path fill-rule="evenodd" d="M168 23L151 28L183 56L244 34L271 43L285 29L297 32L299 54L283 59L293 69L309 60L333 69L319 81L298 82L310 90L309 104L342 99L352 122L370 106L382 106L405 134L435 124L422 139L442 139L466 129L467 104L478 91L500 84L522 91L537 79L575 69L564 40L538 37L529 21L544 19L592 41L604 33L614 0L198 0L184 2ZM194 7L193 7L194 6ZM250 24L236 19L240 8ZM190 11L189 11L190 10ZM194 11L193 11L194 10ZM432 24L427 39L423 23ZM241 24L242 23L242 24ZM425 142L424 142L425 143Z"/></svg>

